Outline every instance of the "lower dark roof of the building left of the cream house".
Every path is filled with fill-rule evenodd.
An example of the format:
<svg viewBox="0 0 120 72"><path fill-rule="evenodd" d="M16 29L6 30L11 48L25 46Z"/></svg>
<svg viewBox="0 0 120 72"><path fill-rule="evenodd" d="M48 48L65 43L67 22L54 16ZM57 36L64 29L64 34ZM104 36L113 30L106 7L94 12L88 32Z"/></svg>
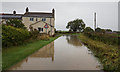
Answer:
<svg viewBox="0 0 120 72"><path fill-rule="evenodd" d="M0 14L2 19L22 19L23 14Z"/></svg>

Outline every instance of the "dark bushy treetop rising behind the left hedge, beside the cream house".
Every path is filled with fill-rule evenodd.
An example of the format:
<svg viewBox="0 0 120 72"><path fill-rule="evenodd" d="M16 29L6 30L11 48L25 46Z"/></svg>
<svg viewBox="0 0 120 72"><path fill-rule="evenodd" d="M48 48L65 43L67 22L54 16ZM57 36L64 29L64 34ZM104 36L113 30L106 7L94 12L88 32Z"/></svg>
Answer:
<svg viewBox="0 0 120 72"><path fill-rule="evenodd" d="M7 25L11 25L16 28L25 28L24 24L19 19L9 19L6 23Z"/></svg>

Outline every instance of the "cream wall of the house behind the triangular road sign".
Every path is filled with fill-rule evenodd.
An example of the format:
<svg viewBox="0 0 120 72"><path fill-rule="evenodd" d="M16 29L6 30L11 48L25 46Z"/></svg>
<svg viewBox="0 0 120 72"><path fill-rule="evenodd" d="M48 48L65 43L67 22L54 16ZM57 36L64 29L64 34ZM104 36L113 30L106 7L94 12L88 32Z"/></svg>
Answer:
<svg viewBox="0 0 120 72"><path fill-rule="evenodd" d="M30 21L30 18L34 18L34 20L33 20L33 21ZM38 18L38 17L22 17L22 22L24 23L25 27L27 27L27 29L28 29L29 31L30 31L29 26L30 26L31 24L37 22L37 21L36 21L36 18L37 18L37 21L42 20L42 18ZM51 24L52 26L54 26L54 18L46 18L46 21L45 21L45 22L48 23L48 24ZM44 23L44 22L41 21L41 22L38 22L38 23L32 25L32 27L33 27L33 29L37 29L37 30L38 30L38 27L41 27L41 28L43 28L43 31L41 31L40 33L47 33L47 34L49 34L49 35L54 35L54 34L55 34L55 29L54 29L54 27L51 27L50 25L48 25L49 28L48 28L48 29L45 29L45 28L44 28L44 25L45 25L46 23Z"/></svg>

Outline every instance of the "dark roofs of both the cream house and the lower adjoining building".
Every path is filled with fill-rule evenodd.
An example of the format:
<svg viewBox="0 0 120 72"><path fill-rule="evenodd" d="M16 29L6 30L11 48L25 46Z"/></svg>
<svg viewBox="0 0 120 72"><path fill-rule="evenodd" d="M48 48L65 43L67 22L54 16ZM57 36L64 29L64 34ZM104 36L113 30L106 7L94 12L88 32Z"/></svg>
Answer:
<svg viewBox="0 0 120 72"><path fill-rule="evenodd" d="M24 14L7 14L2 13L0 14L0 18L2 19L22 19L22 17L42 17L42 18L53 18L52 13L45 13L45 12L26 12Z"/></svg>

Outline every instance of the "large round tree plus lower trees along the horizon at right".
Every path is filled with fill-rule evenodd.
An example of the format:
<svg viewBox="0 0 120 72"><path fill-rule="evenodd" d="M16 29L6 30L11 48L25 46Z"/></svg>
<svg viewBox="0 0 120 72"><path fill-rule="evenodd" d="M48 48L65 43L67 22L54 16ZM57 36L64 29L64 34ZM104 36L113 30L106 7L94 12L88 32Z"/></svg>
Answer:
<svg viewBox="0 0 120 72"><path fill-rule="evenodd" d="M99 33L113 32L111 29L101 29L98 27L95 30L93 30L91 27L85 26L86 25L82 19L75 19L73 21L69 21L67 23L66 28L69 29L70 32L99 32Z"/></svg>

